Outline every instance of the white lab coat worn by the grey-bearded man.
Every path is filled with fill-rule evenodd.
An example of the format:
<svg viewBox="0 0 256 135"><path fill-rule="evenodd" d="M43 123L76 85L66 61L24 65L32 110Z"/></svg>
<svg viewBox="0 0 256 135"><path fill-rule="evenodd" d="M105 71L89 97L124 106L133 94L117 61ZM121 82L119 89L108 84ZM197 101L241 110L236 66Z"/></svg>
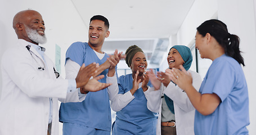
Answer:
<svg viewBox="0 0 256 135"><path fill-rule="evenodd" d="M41 55L19 39L14 48L8 49L2 57L2 97L0 100L1 135L46 135L52 97L52 135L59 134L59 105L61 101L78 102L78 92L67 95L68 80L56 79L53 62L44 55L45 70ZM35 60L37 62L35 62ZM67 98L66 98L67 97ZM66 98L66 99L65 99Z"/></svg>

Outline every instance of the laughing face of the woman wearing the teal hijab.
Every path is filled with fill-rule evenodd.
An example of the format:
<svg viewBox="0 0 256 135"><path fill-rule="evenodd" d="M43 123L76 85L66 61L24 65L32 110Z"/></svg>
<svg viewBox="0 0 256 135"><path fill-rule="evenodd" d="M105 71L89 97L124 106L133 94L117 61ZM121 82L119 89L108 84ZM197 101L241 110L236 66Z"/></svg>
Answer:
<svg viewBox="0 0 256 135"><path fill-rule="evenodd" d="M177 68L179 67L179 65L183 65L183 59L181 57L181 55L179 54L179 52L175 49L172 48L167 56L167 62L169 65L169 68Z"/></svg>

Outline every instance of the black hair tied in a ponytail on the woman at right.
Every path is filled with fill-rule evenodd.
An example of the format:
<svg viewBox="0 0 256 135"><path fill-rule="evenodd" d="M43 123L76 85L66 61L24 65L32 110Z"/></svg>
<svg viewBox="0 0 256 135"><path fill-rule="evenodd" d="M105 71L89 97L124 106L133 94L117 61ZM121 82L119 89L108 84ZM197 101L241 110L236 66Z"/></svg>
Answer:
<svg viewBox="0 0 256 135"><path fill-rule="evenodd" d="M227 25L219 20L207 20L203 22L199 27L196 28L199 34L205 37L206 33L213 36L217 42L224 48L225 54L227 56L235 59L239 64L244 65L244 59L241 56L241 51L239 50L240 39L237 35L228 33Z"/></svg>

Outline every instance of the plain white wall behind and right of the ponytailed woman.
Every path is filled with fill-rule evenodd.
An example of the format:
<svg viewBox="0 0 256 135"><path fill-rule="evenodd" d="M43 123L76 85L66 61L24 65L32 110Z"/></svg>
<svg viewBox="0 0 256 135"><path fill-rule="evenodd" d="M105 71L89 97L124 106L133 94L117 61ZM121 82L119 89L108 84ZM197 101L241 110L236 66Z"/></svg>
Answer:
<svg viewBox="0 0 256 135"><path fill-rule="evenodd" d="M196 0L177 33L177 44L191 46L194 43L197 26L205 20L218 16L219 20L227 24L231 34L237 34L240 37L240 49L245 61L243 69L249 91L249 134L256 134L255 5L255 0Z"/></svg>

